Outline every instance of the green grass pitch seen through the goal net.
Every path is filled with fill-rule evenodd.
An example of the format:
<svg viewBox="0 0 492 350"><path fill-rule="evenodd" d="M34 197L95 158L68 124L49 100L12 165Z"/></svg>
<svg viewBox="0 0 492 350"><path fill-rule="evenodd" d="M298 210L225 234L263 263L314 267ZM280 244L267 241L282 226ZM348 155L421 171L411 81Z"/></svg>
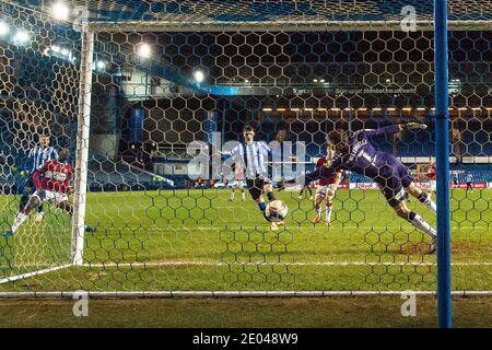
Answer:
<svg viewBox="0 0 492 350"><path fill-rule="evenodd" d="M377 190L339 190L332 225L313 202L277 192L290 209L271 232L256 203L230 190L87 195L84 265L1 283L0 291L434 290L429 237L397 218ZM492 290L492 191L452 190L453 289ZM19 198L0 197L8 229ZM418 200L409 205L435 225ZM0 280L70 261L70 220L46 206L15 237L0 237Z"/></svg>

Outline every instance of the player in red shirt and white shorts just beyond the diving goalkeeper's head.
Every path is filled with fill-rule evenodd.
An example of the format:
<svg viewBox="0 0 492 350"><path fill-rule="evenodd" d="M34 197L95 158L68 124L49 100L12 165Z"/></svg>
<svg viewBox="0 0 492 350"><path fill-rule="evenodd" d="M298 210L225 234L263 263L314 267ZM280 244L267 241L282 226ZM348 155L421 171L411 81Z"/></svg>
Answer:
<svg viewBox="0 0 492 350"><path fill-rule="evenodd" d="M316 168L323 166L329 166L331 159L335 155L335 149L327 148L327 156L320 158L316 163ZM316 184L316 196L315 196L315 210L316 217L314 223L321 221L321 203L326 200L326 218L325 223L327 226L331 224L331 210L333 206L333 197L338 185L341 179L341 170L337 170L336 174L330 177L320 177Z"/></svg>

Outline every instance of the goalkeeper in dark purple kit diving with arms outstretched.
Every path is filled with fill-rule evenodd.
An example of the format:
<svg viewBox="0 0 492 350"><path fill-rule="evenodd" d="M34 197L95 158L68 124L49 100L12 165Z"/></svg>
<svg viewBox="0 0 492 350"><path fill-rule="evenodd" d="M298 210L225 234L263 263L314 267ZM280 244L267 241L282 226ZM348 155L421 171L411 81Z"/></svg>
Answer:
<svg viewBox="0 0 492 350"><path fill-rule="evenodd" d="M408 168L389 153L376 151L368 139L384 133L395 133L409 129L426 129L425 125L409 122L394 125L375 130L364 129L351 132L348 138L341 131L329 135L329 142L336 148L337 154L327 166L320 167L304 176L306 183L321 177L335 176L337 171L347 170L365 175L379 185L389 206L398 217L409 221L418 230L432 237L431 253L436 249L436 231L419 214L411 211L406 203L405 191L418 198L425 207L436 212L436 206L430 196L415 186Z"/></svg>

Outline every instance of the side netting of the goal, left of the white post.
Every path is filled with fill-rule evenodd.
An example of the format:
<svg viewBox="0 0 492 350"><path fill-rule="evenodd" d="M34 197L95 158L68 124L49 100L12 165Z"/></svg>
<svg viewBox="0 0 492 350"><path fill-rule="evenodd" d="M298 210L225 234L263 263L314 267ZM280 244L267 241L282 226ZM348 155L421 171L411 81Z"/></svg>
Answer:
<svg viewBox="0 0 492 350"><path fill-rule="evenodd" d="M39 136L49 135L57 148L74 148L71 140L77 133L79 73L73 65L78 56L77 33L54 26L32 11L4 4L0 21L0 183L4 226L20 209L16 195L24 189L33 192L26 185L30 175L25 162ZM48 56L60 42L63 54L69 54ZM70 219L55 208L46 207L45 211L45 220L26 224L15 244L2 242L2 278L70 262Z"/></svg>

